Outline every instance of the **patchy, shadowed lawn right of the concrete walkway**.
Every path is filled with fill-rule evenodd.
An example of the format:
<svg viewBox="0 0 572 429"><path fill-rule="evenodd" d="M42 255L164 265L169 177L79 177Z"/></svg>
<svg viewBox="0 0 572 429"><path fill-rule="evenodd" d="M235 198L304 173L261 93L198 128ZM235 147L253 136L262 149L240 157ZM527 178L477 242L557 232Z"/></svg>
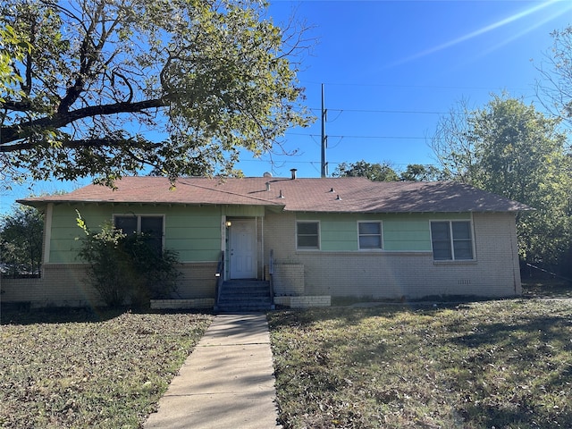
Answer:
<svg viewBox="0 0 572 429"><path fill-rule="evenodd" d="M572 301L269 315L285 429L572 427Z"/></svg>

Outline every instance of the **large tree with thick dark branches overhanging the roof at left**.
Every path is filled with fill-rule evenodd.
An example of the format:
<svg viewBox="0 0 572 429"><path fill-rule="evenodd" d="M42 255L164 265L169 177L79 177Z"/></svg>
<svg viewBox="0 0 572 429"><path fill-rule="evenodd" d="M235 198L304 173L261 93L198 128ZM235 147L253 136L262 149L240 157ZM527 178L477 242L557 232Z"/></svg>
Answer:
<svg viewBox="0 0 572 429"><path fill-rule="evenodd" d="M231 172L310 121L292 61L303 29L256 0L9 0L0 44L4 179ZM291 29L291 30L290 30ZM19 40L19 41L18 41ZM5 62L4 62L5 63ZM5 67L4 67L5 68Z"/></svg>

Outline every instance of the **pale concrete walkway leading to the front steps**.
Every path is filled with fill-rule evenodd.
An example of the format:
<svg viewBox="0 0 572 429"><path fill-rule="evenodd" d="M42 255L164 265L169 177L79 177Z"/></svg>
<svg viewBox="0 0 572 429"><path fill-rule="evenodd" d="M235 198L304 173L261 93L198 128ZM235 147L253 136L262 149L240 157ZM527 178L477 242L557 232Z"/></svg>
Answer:
<svg viewBox="0 0 572 429"><path fill-rule="evenodd" d="M265 315L217 315L144 427L282 427L275 396Z"/></svg>

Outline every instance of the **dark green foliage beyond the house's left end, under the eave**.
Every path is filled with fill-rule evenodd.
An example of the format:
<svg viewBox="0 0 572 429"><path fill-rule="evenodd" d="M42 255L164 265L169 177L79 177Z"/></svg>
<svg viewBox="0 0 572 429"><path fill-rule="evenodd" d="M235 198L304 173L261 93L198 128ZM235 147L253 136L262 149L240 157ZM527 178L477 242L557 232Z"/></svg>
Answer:
<svg viewBox="0 0 572 429"><path fill-rule="evenodd" d="M0 219L2 272L9 277L39 275L42 263L44 216L37 209L14 205Z"/></svg>

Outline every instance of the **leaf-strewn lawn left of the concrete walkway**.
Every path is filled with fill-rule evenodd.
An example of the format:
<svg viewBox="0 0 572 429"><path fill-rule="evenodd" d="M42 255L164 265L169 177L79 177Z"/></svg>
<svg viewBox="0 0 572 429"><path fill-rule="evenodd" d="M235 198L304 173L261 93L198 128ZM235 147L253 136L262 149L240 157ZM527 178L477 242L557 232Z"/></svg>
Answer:
<svg viewBox="0 0 572 429"><path fill-rule="evenodd" d="M4 311L0 427L142 427L211 319Z"/></svg>

